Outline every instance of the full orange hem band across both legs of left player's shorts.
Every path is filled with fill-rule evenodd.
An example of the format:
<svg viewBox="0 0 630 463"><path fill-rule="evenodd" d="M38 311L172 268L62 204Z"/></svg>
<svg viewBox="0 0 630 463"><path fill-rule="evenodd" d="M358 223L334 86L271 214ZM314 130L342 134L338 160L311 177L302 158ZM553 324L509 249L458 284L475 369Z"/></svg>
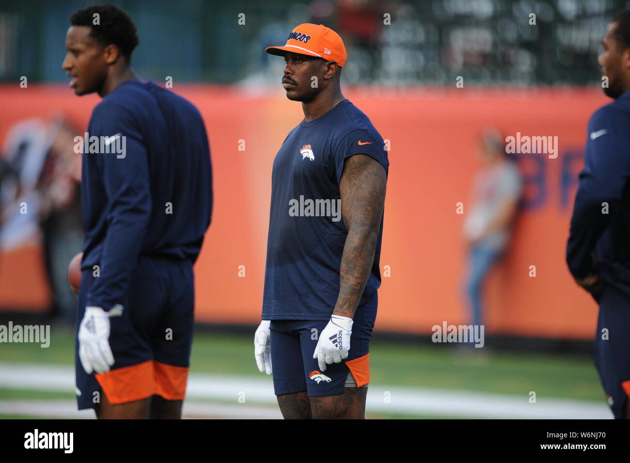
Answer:
<svg viewBox="0 0 630 463"><path fill-rule="evenodd" d="M108 401L113 405L146 399L154 394L166 400L183 400L188 367L146 362L95 374Z"/></svg>

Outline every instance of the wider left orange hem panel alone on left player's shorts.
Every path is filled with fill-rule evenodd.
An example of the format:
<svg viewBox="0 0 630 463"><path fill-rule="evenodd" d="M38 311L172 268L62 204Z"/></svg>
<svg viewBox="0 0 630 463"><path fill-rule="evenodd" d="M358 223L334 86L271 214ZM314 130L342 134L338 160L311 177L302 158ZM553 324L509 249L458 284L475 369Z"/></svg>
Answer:
<svg viewBox="0 0 630 463"><path fill-rule="evenodd" d="M96 380L112 405L123 404L153 395L153 360L96 373Z"/></svg>

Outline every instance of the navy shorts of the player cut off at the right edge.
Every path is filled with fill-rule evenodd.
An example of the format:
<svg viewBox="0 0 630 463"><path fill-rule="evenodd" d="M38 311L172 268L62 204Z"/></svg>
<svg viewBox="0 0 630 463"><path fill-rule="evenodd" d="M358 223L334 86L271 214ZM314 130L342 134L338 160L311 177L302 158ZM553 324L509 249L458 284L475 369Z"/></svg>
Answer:
<svg viewBox="0 0 630 463"><path fill-rule="evenodd" d="M595 367L612 413L617 419L624 418L630 396L630 296L612 286L599 299Z"/></svg>

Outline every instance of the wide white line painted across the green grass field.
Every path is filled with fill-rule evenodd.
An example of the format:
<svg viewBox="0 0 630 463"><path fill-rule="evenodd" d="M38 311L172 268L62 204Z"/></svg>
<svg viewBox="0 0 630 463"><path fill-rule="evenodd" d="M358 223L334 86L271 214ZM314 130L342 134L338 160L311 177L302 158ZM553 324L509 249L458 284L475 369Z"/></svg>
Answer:
<svg viewBox="0 0 630 463"><path fill-rule="evenodd" d="M0 388L74 393L74 368L67 365L0 362ZM272 379L266 375L256 378L192 373L188 379L188 399L234 401L235 406L244 405L238 403L239 396L245 398L248 407L251 404L277 404L273 395ZM388 397L390 401L386 402ZM599 402L538 396L537 403L532 404L529 403L527 394L517 396L401 386L370 386L366 409L368 413L464 418L612 418L612 413L603 400ZM0 413L8 412L0 406Z"/></svg>

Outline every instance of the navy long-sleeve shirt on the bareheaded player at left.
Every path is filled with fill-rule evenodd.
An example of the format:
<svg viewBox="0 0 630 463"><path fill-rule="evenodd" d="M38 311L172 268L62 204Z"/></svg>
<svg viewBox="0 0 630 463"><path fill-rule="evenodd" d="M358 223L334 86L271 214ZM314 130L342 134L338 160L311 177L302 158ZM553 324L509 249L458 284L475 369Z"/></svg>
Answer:
<svg viewBox="0 0 630 463"><path fill-rule="evenodd" d="M139 81L96 105L88 134L107 138L84 148L81 268L99 266L87 305L109 310L140 254L197 259L212 214L210 147L195 106Z"/></svg>

